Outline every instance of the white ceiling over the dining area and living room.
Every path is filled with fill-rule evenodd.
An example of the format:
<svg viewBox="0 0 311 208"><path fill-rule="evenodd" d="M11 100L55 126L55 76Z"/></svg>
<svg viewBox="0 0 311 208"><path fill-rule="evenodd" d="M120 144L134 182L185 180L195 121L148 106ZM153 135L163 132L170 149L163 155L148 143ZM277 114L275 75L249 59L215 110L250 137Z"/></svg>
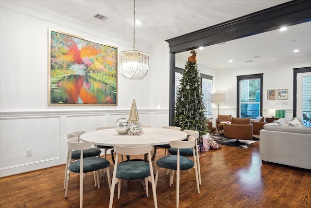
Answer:
<svg viewBox="0 0 311 208"><path fill-rule="evenodd" d="M25 0L29 3L60 13L74 19L122 34L133 41L133 0ZM136 43L154 45L230 19L266 9L289 0L136 0ZM93 16L101 14L104 21ZM302 26L308 24L307 27ZM291 29L290 29L291 28ZM246 60L287 60L293 56L294 48L301 48L299 55L311 57L310 23L291 26L280 34L271 31L247 38L232 40L225 45L208 46L199 51L198 61L222 69L245 63ZM302 32L297 31L303 29ZM285 34L285 35L284 35ZM256 40L254 40L254 37ZM295 41L292 41L295 40ZM239 42L243 41L243 42ZM256 43L257 46L253 44ZM258 43L258 44L257 44ZM272 47L273 46L273 47ZM272 50L272 49L277 50ZM136 48L139 50L139 48ZM267 49L269 49L267 51ZM287 52L290 50L290 52ZM308 51L308 54L305 53ZM187 55L181 55L188 57ZM221 56L219 56L221 54ZM297 58L298 54L294 56ZM260 56L260 58L253 58ZM228 63L228 59L233 59Z"/></svg>

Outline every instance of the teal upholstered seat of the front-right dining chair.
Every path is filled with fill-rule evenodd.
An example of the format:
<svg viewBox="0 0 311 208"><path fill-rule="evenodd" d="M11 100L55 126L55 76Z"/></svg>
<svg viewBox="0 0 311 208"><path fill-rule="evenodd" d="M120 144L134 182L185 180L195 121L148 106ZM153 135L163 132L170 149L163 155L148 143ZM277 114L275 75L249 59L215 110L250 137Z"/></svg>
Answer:
<svg viewBox="0 0 311 208"><path fill-rule="evenodd" d="M190 148L191 149L191 148ZM192 149L191 149L192 151ZM187 157L179 157L180 170L193 168L194 162ZM177 155L168 155L156 161L156 165L170 170L177 170Z"/></svg>

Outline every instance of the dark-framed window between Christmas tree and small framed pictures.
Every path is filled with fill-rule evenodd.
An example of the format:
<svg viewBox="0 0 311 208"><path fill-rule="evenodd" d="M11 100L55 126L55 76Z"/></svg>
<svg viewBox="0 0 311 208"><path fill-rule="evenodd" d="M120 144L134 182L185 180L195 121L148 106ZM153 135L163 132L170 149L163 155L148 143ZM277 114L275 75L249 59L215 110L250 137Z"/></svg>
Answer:
<svg viewBox="0 0 311 208"><path fill-rule="evenodd" d="M262 74L237 76L237 115L256 118L262 115Z"/></svg>

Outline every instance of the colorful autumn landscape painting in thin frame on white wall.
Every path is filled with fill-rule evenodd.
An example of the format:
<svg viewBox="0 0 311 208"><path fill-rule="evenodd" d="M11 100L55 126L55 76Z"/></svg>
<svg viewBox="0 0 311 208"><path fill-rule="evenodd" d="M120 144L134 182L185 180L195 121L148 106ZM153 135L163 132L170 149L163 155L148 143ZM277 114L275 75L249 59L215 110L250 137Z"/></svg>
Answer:
<svg viewBox="0 0 311 208"><path fill-rule="evenodd" d="M49 105L117 105L118 49L49 30Z"/></svg>

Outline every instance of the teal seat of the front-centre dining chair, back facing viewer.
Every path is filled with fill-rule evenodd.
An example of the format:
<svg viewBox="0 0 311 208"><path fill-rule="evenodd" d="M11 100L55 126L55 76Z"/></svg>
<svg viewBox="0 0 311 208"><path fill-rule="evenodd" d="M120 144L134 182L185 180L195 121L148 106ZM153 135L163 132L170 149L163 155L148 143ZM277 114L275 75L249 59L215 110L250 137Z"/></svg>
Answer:
<svg viewBox="0 0 311 208"><path fill-rule="evenodd" d="M150 176L149 163L144 161L124 161L118 164L117 178L137 180Z"/></svg>

